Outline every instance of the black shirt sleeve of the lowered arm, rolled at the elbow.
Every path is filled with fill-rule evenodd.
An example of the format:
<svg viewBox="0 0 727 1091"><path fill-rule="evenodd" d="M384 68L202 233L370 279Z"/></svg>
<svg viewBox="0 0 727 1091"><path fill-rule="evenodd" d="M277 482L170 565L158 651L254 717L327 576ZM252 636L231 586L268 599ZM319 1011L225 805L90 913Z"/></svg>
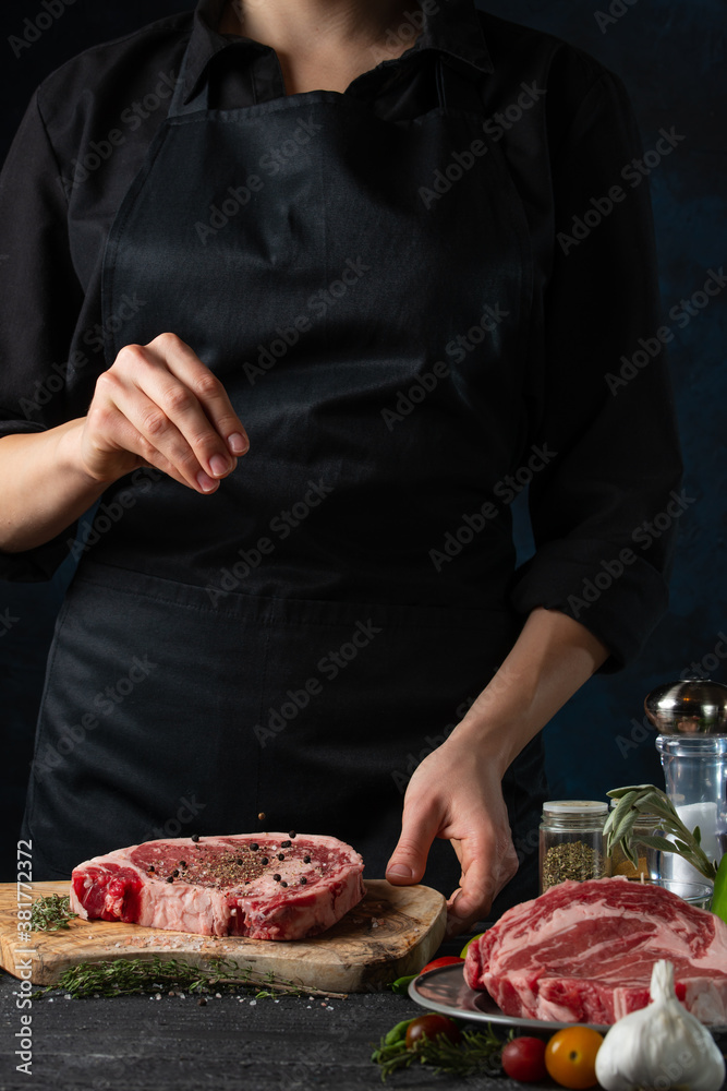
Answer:
<svg viewBox="0 0 727 1091"><path fill-rule="evenodd" d="M664 145L665 147L668 146ZM543 468L530 485L535 555L513 602L578 620L611 651L640 651L667 606L681 458L649 183L621 82L604 70L553 151L554 262L544 362L530 404Z"/></svg>

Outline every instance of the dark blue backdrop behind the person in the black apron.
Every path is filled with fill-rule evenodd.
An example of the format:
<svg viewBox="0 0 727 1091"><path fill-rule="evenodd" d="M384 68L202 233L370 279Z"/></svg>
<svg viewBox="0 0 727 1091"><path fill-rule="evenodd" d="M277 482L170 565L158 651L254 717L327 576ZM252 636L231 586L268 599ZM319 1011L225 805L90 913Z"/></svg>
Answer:
<svg viewBox="0 0 727 1091"><path fill-rule="evenodd" d="M35 86L86 47L155 19L192 8L181 0L75 0L32 48L15 58L8 41L40 0L3 0L0 16L0 157ZM651 176L665 311L704 284L727 259L725 196L724 0L494 0L478 3L580 46L617 72L632 98L644 148L658 130L686 135ZM614 22L599 26L596 13ZM623 14L615 17L619 11ZM694 497L679 525L670 610L638 663L593 679L546 729L553 798L604 798L626 783L663 783L653 732L642 726L643 698L655 685L690 668L725 681L725 425L724 367L727 291L714 299L671 345L670 365L687 466ZM644 335L650 332L644 331ZM722 367L720 367L722 364ZM521 546L528 548L524 526ZM0 582L0 879L15 875L15 837L43 690L45 656L70 566L51 585ZM722 635L720 635L722 634ZM720 644L720 640L725 640ZM724 650L723 650L724 649ZM526 850L528 847L520 847Z"/></svg>

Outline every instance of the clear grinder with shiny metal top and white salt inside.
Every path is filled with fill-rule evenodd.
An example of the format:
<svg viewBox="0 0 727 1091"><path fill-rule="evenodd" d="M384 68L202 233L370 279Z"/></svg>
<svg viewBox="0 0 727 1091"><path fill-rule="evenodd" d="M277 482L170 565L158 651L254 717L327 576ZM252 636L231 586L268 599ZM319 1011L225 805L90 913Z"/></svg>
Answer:
<svg viewBox="0 0 727 1091"><path fill-rule="evenodd" d="M717 863L727 851L727 685L687 679L652 690L646 716L658 730L666 794L684 826L699 826L702 848ZM703 876L677 853L662 853L662 878Z"/></svg>

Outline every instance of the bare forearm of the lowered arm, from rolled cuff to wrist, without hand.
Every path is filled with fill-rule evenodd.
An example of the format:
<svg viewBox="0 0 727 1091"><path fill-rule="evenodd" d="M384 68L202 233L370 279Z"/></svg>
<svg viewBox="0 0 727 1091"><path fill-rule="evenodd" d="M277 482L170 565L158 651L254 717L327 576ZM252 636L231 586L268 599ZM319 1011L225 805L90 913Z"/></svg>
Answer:
<svg viewBox="0 0 727 1091"><path fill-rule="evenodd" d="M580 622L538 607L452 735L470 736L487 748L504 774L608 656Z"/></svg>

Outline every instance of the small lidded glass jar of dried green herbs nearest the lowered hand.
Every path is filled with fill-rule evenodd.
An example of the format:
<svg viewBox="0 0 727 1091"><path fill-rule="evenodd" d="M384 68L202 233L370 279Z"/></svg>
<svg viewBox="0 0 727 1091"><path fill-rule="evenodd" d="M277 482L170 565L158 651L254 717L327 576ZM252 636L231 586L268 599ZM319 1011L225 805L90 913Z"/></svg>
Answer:
<svg viewBox="0 0 727 1091"><path fill-rule="evenodd" d="M543 804L541 894L565 879L599 879L606 874L604 826L608 804L558 800Z"/></svg>

